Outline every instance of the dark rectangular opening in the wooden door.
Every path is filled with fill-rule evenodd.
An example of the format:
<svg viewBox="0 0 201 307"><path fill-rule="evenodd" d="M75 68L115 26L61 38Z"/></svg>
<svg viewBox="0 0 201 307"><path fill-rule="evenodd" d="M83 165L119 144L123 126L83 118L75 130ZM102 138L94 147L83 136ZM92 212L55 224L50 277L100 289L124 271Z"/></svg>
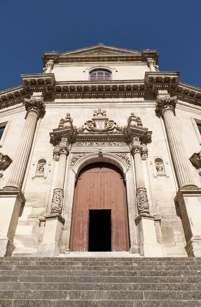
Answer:
<svg viewBox="0 0 201 307"><path fill-rule="evenodd" d="M89 252L111 252L111 210L89 210Z"/></svg>

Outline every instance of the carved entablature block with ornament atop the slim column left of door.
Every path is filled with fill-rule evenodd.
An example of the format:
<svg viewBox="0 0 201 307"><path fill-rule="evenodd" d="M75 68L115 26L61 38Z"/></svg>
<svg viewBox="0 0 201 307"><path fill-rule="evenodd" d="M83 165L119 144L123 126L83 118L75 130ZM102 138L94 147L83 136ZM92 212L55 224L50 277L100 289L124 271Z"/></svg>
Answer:
<svg viewBox="0 0 201 307"><path fill-rule="evenodd" d="M77 134L77 128L73 127L73 119L70 113L66 114L65 119L62 118L59 122L59 126L50 132L50 140L55 144L59 144L61 141L65 140L72 142Z"/></svg>

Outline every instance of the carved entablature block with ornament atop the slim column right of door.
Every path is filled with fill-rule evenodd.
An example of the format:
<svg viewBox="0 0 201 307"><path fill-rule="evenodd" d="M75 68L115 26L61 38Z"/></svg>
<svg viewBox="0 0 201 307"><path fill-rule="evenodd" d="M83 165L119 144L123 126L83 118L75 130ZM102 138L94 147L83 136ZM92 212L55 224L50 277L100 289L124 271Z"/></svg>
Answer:
<svg viewBox="0 0 201 307"><path fill-rule="evenodd" d="M146 142L151 139L152 131L148 131L148 128L143 128L141 119L135 116L133 112L129 116L127 124L127 127L124 128L124 133L131 141L135 139Z"/></svg>

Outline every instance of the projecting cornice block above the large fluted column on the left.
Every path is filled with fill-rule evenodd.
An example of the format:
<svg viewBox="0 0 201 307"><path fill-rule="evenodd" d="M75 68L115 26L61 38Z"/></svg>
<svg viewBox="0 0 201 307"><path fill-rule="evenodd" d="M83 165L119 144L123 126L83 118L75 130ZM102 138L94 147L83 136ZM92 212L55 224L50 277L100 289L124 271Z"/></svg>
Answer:
<svg viewBox="0 0 201 307"><path fill-rule="evenodd" d="M20 76L24 88L30 92L48 93L49 86L55 84L54 74L30 74Z"/></svg>

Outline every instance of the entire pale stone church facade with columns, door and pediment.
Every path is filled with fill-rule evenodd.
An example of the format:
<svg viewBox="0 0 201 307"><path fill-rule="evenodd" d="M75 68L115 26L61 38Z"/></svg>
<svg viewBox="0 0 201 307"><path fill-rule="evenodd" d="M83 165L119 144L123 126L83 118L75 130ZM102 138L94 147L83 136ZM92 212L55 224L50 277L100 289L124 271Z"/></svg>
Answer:
<svg viewBox="0 0 201 307"><path fill-rule="evenodd" d="M0 256L201 256L201 89L158 57L44 52L0 92Z"/></svg>

